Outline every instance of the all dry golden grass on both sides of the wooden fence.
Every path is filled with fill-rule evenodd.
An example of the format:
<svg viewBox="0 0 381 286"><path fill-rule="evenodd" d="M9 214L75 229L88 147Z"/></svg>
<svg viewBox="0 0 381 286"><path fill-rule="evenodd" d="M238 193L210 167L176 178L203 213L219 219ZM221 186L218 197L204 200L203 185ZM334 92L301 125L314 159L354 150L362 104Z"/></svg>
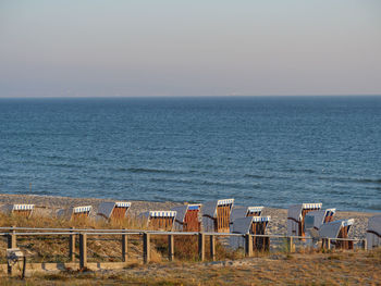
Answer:
<svg viewBox="0 0 381 286"><path fill-rule="evenodd" d="M32 219L0 214L0 226L87 227L142 229L144 222L125 220L119 223L82 220L61 221L56 217ZM17 246L32 262L65 262L69 259L69 238L17 237ZM0 285L381 285L381 249L373 251L321 251L314 248L288 253L286 246L279 252L255 253L244 258L217 244L217 262L206 251L207 262L197 261L197 237L175 238L175 261L168 261L167 236L152 236L152 263L142 262L143 245L139 236L128 237L128 264L123 270L73 271L34 273L25 281L19 277L0 278ZM7 241L0 241L4 253ZM89 262L121 261L119 236L91 236L88 241ZM209 241L206 243L209 249ZM4 263L4 256L0 257ZM0 274L1 275L1 274Z"/></svg>

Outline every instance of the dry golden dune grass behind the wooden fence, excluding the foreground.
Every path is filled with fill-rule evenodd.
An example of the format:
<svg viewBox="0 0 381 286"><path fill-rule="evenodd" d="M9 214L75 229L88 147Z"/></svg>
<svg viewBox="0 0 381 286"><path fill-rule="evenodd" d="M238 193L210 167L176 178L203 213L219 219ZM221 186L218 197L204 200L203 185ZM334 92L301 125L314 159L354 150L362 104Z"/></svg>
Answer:
<svg viewBox="0 0 381 286"><path fill-rule="evenodd" d="M106 220L79 219L75 221L60 220L33 215L26 219L17 215L5 215L0 213L0 226L23 227L51 227L51 228L128 228L146 229L147 222L142 220L125 219L119 222ZM206 237L206 259L209 256L209 239ZM93 236L88 235L88 262L118 262L122 261L121 236ZM175 236L175 258L182 261L198 261L197 236ZM152 236L151 261L168 261L168 237ZM17 247L28 257L29 262L69 262L69 236L19 236ZM76 258L78 259L78 239L76 241ZM7 249L5 238L0 238L0 251ZM239 251L231 251L217 240L217 259L237 259L242 257ZM142 237L128 236L128 258L143 261ZM0 256L0 263L5 263L4 256Z"/></svg>

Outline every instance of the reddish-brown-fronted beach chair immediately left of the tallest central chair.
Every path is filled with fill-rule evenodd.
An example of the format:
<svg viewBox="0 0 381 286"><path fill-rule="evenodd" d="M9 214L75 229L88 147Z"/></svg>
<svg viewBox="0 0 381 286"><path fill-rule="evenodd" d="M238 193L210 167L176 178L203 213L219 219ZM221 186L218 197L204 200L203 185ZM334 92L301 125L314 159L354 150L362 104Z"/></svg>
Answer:
<svg viewBox="0 0 381 286"><path fill-rule="evenodd" d="M201 231L201 204L185 204L175 207L172 211L176 212L175 228L183 232Z"/></svg>

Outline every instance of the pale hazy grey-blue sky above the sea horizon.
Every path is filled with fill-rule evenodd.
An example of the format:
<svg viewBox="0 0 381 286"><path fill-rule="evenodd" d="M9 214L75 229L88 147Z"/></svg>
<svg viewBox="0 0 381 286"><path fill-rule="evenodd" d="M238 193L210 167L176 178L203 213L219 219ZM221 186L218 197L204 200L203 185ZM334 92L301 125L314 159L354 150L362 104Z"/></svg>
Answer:
<svg viewBox="0 0 381 286"><path fill-rule="evenodd" d="M381 95L378 0L0 0L0 97Z"/></svg>

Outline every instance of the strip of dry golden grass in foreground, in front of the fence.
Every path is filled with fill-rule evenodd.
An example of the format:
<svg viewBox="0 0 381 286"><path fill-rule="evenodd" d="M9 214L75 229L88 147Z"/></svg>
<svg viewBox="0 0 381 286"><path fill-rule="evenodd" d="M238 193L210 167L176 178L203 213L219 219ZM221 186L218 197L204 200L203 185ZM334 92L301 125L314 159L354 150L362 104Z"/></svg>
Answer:
<svg viewBox="0 0 381 286"><path fill-rule="evenodd" d="M370 252L271 254L229 263L173 262L108 272L62 272L27 285L380 285L381 249ZM4 278L1 285L25 285Z"/></svg>

